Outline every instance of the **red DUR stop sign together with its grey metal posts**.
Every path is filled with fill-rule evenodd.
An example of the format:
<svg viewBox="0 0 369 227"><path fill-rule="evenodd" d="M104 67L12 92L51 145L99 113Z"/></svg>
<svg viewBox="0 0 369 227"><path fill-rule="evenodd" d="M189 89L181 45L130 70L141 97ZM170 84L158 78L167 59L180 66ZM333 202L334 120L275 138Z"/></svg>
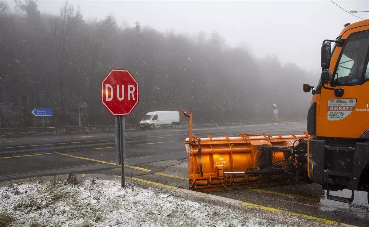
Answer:
<svg viewBox="0 0 369 227"><path fill-rule="evenodd" d="M121 167L121 187L125 186L125 116L138 104L138 82L130 71L112 69L101 81L101 103L115 117L116 162Z"/></svg>

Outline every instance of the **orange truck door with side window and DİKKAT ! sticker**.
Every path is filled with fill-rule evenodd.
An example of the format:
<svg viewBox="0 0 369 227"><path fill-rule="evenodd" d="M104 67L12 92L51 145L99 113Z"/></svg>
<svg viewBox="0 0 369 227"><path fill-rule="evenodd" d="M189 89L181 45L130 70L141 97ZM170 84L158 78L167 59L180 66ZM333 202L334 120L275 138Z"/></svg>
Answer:
<svg viewBox="0 0 369 227"><path fill-rule="evenodd" d="M317 136L360 138L369 128L369 26L346 31L342 47L336 47L331 60L331 88L343 88L336 97L321 90ZM334 61L334 59L338 59Z"/></svg>

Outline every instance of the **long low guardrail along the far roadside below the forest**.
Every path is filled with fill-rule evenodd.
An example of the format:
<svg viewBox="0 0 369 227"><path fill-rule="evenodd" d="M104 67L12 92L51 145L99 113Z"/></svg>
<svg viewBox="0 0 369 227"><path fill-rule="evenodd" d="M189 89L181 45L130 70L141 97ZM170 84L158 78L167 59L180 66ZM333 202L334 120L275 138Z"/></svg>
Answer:
<svg viewBox="0 0 369 227"><path fill-rule="evenodd" d="M302 119L293 119L293 120L280 120L280 122L294 122L294 121L302 121ZM193 122L194 127L201 126L231 126L231 125L248 125L248 124L260 124L260 123L272 123L272 119L268 120L242 120L242 121L197 121ZM180 127L188 126L189 122L181 121ZM126 124L126 128L139 128L139 124ZM30 128L1 128L0 134L2 132L16 132L16 131L58 131L58 130L88 130L88 129L97 129L97 128L112 128L114 129L114 125L86 125L86 126L58 126L58 127L30 127Z"/></svg>

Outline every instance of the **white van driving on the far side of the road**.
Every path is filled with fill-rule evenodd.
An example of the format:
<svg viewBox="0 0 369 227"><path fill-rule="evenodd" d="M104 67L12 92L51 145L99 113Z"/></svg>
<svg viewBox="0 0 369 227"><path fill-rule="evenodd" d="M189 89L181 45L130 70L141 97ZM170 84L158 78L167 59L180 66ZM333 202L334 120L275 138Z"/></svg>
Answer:
<svg viewBox="0 0 369 227"><path fill-rule="evenodd" d="M179 125L178 111L155 111L149 112L139 123L141 129L154 129L156 127L170 126L175 128Z"/></svg>

